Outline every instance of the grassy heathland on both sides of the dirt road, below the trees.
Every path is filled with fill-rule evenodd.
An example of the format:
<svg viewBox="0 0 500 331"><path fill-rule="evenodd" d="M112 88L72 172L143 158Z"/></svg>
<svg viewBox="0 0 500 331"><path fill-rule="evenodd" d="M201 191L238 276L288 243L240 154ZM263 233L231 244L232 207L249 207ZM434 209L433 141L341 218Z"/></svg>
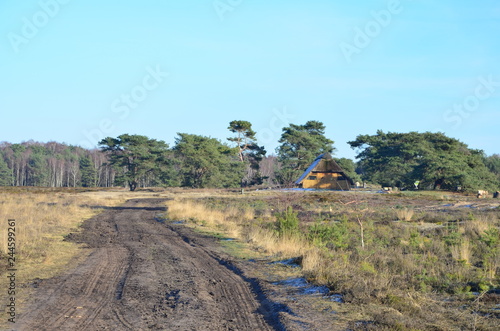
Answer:
<svg viewBox="0 0 500 331"><path fill-rule="evenodd" d="M164 222L219 237L261 263L289 259L309 282L342 296L350 329L494 330L500 304L500 204L444 191L351 192L4 188L0 217L17 222L20 303L38 279L68 268L64 238L106 206L169 197ZM1 270L7 261L0 229ZM2 271L2 273L3 273ZM285 268L280 273L288 272ZM0 285L6 279L0 280ZM5 284L4 284L5 285ZM5 287L5 286L3 286ZM1 296L0 296L1 297ZM346 322L347 323L347 322Z"/></svg>

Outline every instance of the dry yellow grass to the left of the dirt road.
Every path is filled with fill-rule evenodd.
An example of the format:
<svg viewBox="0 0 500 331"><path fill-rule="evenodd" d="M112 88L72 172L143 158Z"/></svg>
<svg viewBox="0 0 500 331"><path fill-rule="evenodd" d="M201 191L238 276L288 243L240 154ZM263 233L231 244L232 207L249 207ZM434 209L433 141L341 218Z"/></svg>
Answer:
<svg viewBox="0 0 500 331"><path fill-rule="evenodd" d="M30 295L30 287L21 286L35 278L50 278L85 257L75 243L64 236L100 211L100 206L115 206L124 202L121 193L113 192L15 192L0 193L0 288L5 289L7 277L7 219L16 221L16 302L22 308ZM0 292L6 302L7 292ZM4 311L1 321L6 321Z"/></svg>

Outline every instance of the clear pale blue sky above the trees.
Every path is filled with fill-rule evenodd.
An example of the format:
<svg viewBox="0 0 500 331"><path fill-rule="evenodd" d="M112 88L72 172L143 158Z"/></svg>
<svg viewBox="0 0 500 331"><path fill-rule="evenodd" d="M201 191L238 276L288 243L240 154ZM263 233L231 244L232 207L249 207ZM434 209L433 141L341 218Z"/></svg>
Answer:
<svg viewBox="0 0 500 331"><path fill-rule="evenodd" d="M177 132L248 120L274 152L318 120L336 156L377 130L500 153L500 3L3 0L0 141Z"/></svg>

